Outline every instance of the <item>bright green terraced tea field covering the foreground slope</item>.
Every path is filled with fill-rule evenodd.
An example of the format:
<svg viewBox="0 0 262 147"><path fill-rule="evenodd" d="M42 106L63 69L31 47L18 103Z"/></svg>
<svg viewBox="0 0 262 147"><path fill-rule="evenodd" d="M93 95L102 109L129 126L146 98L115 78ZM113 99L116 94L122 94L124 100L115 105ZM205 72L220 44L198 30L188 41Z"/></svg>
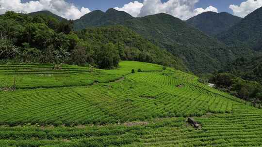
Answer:
<svg viewBox="0 0 262 147"><path fill-rule="evenodd" d="M0 65L0 147L262 146L262 110L194 75L133 61L52 67Z"/></svg>

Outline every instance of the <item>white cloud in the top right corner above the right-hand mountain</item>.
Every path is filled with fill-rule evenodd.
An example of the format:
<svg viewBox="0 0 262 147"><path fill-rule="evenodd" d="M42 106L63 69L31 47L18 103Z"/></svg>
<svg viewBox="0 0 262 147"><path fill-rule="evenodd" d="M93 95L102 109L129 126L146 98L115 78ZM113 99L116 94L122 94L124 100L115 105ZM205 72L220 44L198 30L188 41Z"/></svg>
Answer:
<svg viewBox="0 0 262 147"><path fill-rule="evenodd" d="M239 17L245 17L260 7L262 7L262 0L246 0L239 6L234 4L229 6L233 14Z"/></svg>

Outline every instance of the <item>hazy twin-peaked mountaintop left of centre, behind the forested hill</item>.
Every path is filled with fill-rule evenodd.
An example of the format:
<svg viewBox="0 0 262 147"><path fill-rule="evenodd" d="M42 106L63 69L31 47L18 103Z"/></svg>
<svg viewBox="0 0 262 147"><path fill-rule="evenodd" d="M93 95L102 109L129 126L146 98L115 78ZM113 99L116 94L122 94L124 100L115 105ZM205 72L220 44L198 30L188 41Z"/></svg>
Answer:
<svg viewBox="0 0 262 147"><path fill-rule="evenodd" d="M80 19L75 20L74 29L81 30L85 29L86 27L115 25L131 18L133 17L124 11L108 9L104 13L100 10L95 10L91 13L83 15Z"/></svg>

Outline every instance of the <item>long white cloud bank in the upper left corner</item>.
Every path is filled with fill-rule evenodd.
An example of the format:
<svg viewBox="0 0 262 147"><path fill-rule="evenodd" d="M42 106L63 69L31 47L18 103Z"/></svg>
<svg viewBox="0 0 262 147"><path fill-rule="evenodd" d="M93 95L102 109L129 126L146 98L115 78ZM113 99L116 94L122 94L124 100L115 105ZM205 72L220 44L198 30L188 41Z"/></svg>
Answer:
<svg viewBox="0 0 262 147"><path fill-rule="evenodd" d="M73 3L68 3L65 0L31 0L24 3L21 0L0 0L0 14L4 14L6 11L31 13L42 10L48 10L56 15L73 20L90 12L88 8L79 9Z"/></svg>

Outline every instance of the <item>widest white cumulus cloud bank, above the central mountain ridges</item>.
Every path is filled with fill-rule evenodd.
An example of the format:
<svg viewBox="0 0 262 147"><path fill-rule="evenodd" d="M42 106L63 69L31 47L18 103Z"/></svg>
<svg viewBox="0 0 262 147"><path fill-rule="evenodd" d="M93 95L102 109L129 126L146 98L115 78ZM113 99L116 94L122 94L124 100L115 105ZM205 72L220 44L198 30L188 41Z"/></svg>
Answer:
<svg viewBox="0 0 262 147"><path fill-rule="evenodd" d="M168 0L166 2L162 2L161 0L144 0L143 3L134 1L125 4L122 8L116 7L115 9L125 11L135 17L166 13L182 20L186 20L207 11L218 12L213 6L209 6L206 9L195 9L195 4L197 2L198 0Z"/></svg>

